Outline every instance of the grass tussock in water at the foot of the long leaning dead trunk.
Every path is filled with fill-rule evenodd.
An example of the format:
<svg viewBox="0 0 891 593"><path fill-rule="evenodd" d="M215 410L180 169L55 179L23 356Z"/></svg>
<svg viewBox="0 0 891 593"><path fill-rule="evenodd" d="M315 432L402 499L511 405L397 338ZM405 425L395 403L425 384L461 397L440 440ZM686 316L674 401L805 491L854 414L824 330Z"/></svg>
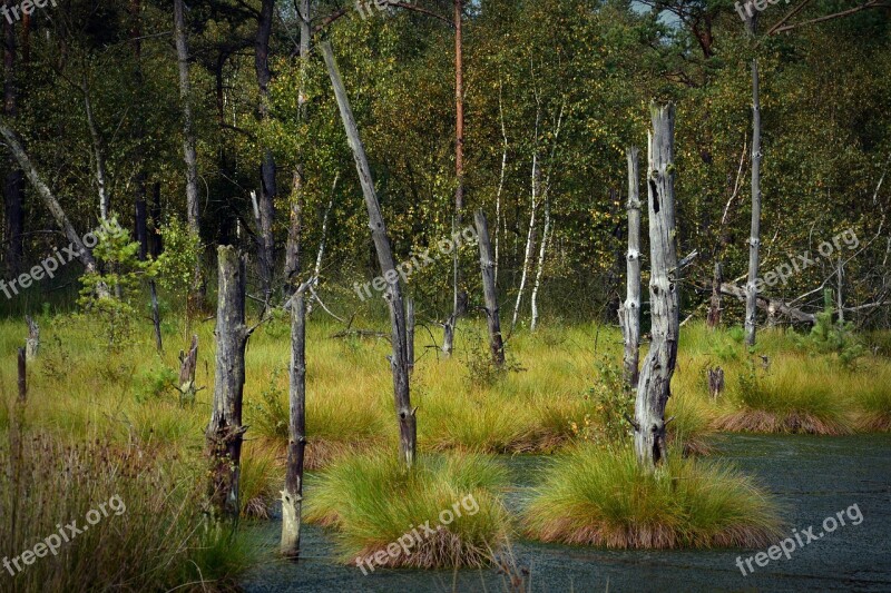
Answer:
<svg viewBox="0 0 891 593"><path fill-rule="evenodd" d="M473 454L421 456L411 471L392 454L351 456L329 467L312 487L306 520L339 532L346 563L376 554L386 556L378 566L478 567L508 537L510 521L499 497L507 481L501 465ZM458 514L456 504L461 516L437 528L448 520L444 512ZM424 524L435 534L424 535ZM413 530L422 536L410 553L385 554Z"/></svg>

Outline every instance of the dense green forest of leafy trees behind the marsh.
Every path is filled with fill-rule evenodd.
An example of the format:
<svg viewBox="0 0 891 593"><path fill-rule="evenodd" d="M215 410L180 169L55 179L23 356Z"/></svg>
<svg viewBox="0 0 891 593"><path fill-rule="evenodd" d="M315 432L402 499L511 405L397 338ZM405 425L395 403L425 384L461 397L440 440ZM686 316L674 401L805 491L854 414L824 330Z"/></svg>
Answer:
<svg viewBox="0 0 891 593"><path fill-rule="evenodd" d="M408 4L414 9L312 2L312 27L333 43L398 261L451 234L458 185L453 3ZM715 259L723 259L725 279L746 271L750 60L757 56L762 269L815 255L822 241L849 229L859 238L855 250L833 256L844 256L842 274L835 259L821 258L767 293L814 312L823 303L815 289L825 285L841 289L850 319L889 327L891 308L874 306L891 288L891 180L881 182L891 160L889 9L870 6L810 22L849 4L806 2L785 20L787 30L773 26L791 6L767 4L753 39L734 6L721 0L466 2L464 224L486 209L503 308L512 308L520 284L535 202L536 260L545 208L550 224L542 316L615 320L624 294L625 150L638 146L646 158L655 98L677 106L679 255L698 251L686 268L682 318L704 316ZM258 23L270 22L270 7L266 95L265 81L258 83ZM251 192L271 191L272 280L280 295L292 211L300 213L301 275L307 277L331 205L320 295L344 317L382 310L381 299L362 300L353 289L378 267L324 63L316 46L309 60L300 58L298 7L195 0L185 8L205 269L214 269L219 244L239 245L254 258L260 217ZM99 225L105 192L134 238L137 207L147 207L149 251L161 253L161 231L175 237L169 229L186 219L174 3L59 0L3 24L3 121L72 226L82 235ZM12 278L67 240L7 155L2 258ZM267 158L275 184L262 189ZM460 281L471 306L481 300L477 258L473 249L462 251ZM451 310L451 266L443 257L412 275L409 291L425 317L442 319ZM55 279L0 298L0 307L8 314L71 308L81 273L71 263ZM262 279L253 266L251 273L257 296ZM215 283L206 284L213 291ZM175 293L161 288L166 307L182 306ZM795 300L801 295L807 296ZM528 316L527 298L521 319ZM728 320L741 323L742 314Z"/></svg>

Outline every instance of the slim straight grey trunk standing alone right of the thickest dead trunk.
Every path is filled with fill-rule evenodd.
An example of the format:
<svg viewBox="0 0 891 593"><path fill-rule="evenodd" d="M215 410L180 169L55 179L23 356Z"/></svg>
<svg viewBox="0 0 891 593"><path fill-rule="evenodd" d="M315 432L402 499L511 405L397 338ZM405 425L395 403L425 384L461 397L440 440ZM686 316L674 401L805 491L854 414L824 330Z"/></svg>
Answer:
<svg viewBox="0 0 891 593"><path fill-rule="evenodd" d="M754 38L757 19L748 20ZM752 60L752 235L748 238L748 281L745 285L745 343L755 345L757 330L757 279L761 250L761 100L758 98L758 60Z"/></svg>

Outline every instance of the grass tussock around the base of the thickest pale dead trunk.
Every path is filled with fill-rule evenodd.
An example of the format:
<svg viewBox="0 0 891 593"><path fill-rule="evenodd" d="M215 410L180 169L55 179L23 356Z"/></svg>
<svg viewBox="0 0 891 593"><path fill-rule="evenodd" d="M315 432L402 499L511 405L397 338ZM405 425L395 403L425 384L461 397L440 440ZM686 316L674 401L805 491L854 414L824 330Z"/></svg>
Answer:
<svg viewBox="0 0 891 593"><path fill-rule="evenodd" d="M761 547L776 503L727 465L674 455L655 473L634 452L579 448L544 473L523 513L529 537L615 548Z"/></svg>

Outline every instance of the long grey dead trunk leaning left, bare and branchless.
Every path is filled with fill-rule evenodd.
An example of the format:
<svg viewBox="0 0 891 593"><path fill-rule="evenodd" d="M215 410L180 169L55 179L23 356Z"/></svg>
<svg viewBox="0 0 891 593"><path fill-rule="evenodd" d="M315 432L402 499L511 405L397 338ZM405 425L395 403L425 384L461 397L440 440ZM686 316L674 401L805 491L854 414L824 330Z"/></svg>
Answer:
<svg viewBox="0 0 891 593"><path fill-rule="evenodd" d="M418 439L418 423L415 417L417 409L411 407L409 394L409 360L408 346L405 343L405 309L402 303L402 290L399 286L399 274L393 263L393 253L390 249L390 239L386 236L386 226L381 214L381 205L374 190L374 181L371 178L371 167L369 167L365 147L359 136L359 128L353 117L350 99L343 86L337 65L334 61L334 52L331 42L321 45L322 55L325 58L331 83L334 87L334 96L343 119L343 127L346 130L346 138L355 159L359 180L362 184L362 192L365 196L365 207L369 211L369 223L371 236L374 240L374 248L378 251L378 261L381 266L381 275L386 280L386 291L384 298L390 309L391 344L393 354L390 357L390 366L393 372L393 396L395 409L399 418L400 432L400 458L411 467L414 463L414 453Z"/></svg>

